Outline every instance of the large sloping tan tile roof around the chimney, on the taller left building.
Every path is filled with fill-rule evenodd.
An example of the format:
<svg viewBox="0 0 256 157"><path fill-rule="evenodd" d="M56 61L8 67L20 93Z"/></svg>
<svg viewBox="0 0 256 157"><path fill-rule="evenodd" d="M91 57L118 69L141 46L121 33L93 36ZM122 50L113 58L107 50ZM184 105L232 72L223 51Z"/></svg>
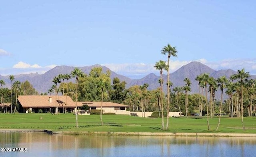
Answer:
<svg viewBox="0 0 256 157"><path fill-rule="evenodd" d="M50 97L52 102L50 102ZM55 95L19 95L18 100L22 107L55 107ZM66 96L57 95L58 107L66 106ZM67 96L67 107L76 107L76 103Z"/></svg>

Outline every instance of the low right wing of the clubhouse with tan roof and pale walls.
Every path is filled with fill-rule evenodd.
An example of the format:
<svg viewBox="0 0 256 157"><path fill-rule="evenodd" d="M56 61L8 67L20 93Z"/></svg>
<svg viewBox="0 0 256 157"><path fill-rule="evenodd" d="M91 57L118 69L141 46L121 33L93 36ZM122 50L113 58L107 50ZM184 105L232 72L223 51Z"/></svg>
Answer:
<svg viewBox="0 0 256 157"><path fill-rule="evenodd" d="M78 106L88 105L91 109L101 109L101 101L98 102L77 102ZM127 111L127 108L130 107L129 105L124 105L120 103L112 103L112 102L102 102L102 110L104 113L115 113L116 115L130 115L130 111Z"/></svg>

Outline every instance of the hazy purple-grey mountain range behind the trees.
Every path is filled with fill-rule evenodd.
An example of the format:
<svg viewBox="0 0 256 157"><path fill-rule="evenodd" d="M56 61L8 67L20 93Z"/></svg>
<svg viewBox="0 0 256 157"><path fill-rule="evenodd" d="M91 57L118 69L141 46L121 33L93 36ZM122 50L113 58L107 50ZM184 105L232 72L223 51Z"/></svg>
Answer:
<svg viewBox="0 0 256 157"><path fill-rule="evenodd" d="M126 81L126 88L131 87L132 85L143 85L144 83L148 83L149 90L156 89L160 86L158 83L158 80L160 76L157 76L153 73L148 74L144 78L141 79L131 79L123 75L116 74L115 72L111 71L106 66L100 66L98 64L93 66L84 66L84 67L78 67L82 70L85 74L89 74L92 68L95 67L102 67L103 72L105 73L107 70L111 72L110 78L113 79L115 77L118 77L120 81ZM39 92L44 93L47 92L48 89L50 89L53 85L52 79L54 76L58 76L58 74L70 74L72 70L74 70L75 67L72 66L56 66L55 68L47 71L44 74L20 74L15 75L15 80L19 80L21 82L28 80L33 87ZM172 74L170 74L170 80L173 83L172 87L175 86L184 86L184 78L189 78L191 80L191 91L190 93L198 93L198 81L195 80L196 76L207 73L211 77L219 78L220 76L226 76L229 78L232 74L236 74L234 70L213 70L212 68L200 63L200 62L190 62L189 64L186 64L185 66L182 66ZM160 72L159 72L160 74ZM255 75L251 75L252 79L256 79ZM6 82L6 87L10 87L10 79L9 76L1 76L0 79L3 79ZM167 75L163 75L163 79L166 82ZM72 81L72 79L71 79ZM74 79L73 79L74 81ZM165 83L164 83L165 84ZM164 85L164 91L166 91L166 85ZM217 91L216 98L218 99L220 97L220 92Z"/></svg>

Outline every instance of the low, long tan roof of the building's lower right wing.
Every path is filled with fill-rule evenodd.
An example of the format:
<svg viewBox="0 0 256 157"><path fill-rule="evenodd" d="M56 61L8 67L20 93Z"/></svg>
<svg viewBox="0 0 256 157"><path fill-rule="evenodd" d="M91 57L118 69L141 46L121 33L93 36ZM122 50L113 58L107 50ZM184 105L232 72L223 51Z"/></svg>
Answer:
<svg viewBox="0 0 256 157"><path fill-rule="evenodd" d="M88 105L89 107L101 107L101 101L82 101L77 102L77 106ZM102 107L130 107L128 105L120 104L120 103L112 103L112 102L102 102Z"/></svg>

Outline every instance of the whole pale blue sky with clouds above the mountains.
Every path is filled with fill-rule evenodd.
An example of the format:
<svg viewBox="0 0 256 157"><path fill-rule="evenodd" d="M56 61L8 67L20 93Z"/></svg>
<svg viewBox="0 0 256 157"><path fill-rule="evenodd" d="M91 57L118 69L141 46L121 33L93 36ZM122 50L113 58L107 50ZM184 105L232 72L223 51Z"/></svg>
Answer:
<svg viewBox="0 0 256 157"><path fill-rule="evenodd" d="M0 75L54 66L107 66L140 78L167 60L256 74L253 0L8 0L0 7Z"/></svg>

